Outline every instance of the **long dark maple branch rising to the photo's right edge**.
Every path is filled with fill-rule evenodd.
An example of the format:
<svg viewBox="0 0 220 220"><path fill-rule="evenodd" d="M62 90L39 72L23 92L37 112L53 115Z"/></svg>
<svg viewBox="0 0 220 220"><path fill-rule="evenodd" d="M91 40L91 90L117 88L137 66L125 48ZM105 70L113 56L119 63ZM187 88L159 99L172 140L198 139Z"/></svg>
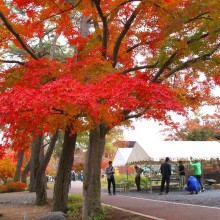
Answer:
<svg viewBox="0 0 220 220"><path fill-rule="evenodd" d="M218 45L216 45L216 47L210 51L209 53L206 53L206 54L203 54L197 58L194 58L194 59L191 59L191 60L188 60L186 62L184 62L182 65L174 68L173 70L171 70L169 73L165 74L164 75L164 78L167 79L169 78L170 76L172 76L175 72L177 71L180 71L180 70L183 70L183 69L186 69L188 68L190 65L196 63L196 62L199 62L199 61L202 61L202 60L207 60L210 56L212 56L218 49L220 48L220 43Z"/></svg>

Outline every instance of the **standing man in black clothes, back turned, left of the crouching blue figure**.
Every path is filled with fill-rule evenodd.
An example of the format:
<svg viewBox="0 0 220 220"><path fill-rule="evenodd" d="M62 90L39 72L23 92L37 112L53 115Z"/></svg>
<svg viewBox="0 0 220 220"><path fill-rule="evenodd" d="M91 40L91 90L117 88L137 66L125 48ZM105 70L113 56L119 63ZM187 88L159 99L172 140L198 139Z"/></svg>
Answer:
<svg viewBox="0 0 220 220"><path fill-rule="evenodd" d="M161 186L160 186L160 195L163 194L164 185L166 182L166 194L170 191L170 176L171 176L171 165L169 162L169 157L166 157L165 162L160 166L160 172L162 174Z"/></svg>

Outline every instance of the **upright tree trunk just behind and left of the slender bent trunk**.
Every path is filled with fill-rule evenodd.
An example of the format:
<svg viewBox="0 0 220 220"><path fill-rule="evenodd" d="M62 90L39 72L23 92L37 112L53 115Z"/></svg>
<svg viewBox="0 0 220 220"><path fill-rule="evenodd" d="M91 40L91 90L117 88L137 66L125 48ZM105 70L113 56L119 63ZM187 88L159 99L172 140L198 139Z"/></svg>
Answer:
<svg viewBox="0 0 220 220"><path fill-rule="evenodd" d="M31 143L31 158L30 158L30 184L29 191L35 192L35 178L37 169L40 166L40 150L43 142L43 136L40 136Z"/></svg>

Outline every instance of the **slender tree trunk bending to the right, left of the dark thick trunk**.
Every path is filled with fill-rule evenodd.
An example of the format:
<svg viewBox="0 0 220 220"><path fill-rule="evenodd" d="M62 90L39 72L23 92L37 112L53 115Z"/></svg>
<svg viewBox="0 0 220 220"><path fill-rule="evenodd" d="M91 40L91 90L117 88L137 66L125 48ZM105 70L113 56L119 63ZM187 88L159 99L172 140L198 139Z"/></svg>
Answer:
<svg viewBox="0 0 220 220"><path fill-rule="evenodd" d="M41 164L36 173L36 201L37 205L45 205L47 203L47 191L46 191L46 175L45 170L52 156L56 140L58 138L58 130L50 139L50 144L47 149L47 153L42 158Z"/></svg>

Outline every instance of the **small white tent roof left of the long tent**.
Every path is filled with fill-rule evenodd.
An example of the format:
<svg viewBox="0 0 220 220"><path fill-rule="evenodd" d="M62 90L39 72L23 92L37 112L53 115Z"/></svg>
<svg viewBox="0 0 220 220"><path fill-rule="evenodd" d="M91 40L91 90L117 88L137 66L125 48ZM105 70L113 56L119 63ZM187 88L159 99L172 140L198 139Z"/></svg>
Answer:
<svg viewBox="0 0 220 220"><path fill-rule="evenodd" d="M127 159L130 156L131 151L132 148L118 148L112 165L118 167L127 164Z"/></svg>

